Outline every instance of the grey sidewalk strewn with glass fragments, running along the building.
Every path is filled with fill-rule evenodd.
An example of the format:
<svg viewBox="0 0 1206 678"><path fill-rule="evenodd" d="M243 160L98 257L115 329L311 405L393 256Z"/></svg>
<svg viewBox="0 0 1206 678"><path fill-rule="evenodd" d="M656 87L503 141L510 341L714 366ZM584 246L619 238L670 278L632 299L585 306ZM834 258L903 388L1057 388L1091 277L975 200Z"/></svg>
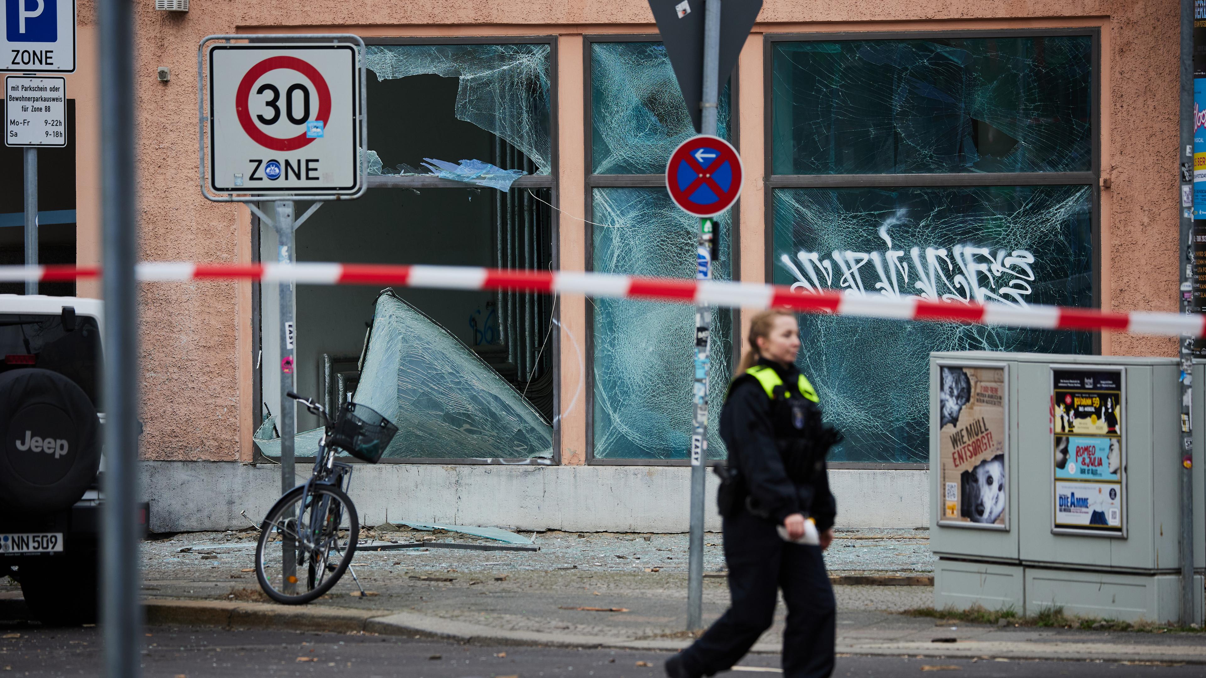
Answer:
<svg viewBox="0 0 1206 678"><path fill-rule="evenodd" d="M409 542L432 533L373 534ZM463 534L435 539L475 543ZM646 540L648 537L648 540ZM181 534L144 544L148 620L156 624L361 631L541 645L673 650L689 637L685 534L535 536L540 551L373 551L361 545L355 569L323 598L302 607L260 602L252 567L254 533ZM728 595L720 534L706 542L704 621ZM481 543L487 543L482 540ZM186 550L187 549L187 550ZM835 575L924 577L932 573L925 531L850 531L826 553ZM842 579L839 579L842 581ZM0 586L0 596L5 586ZM838 651L990 659L1088 659L1206 664L1206 635L1094 632L1066 629L952 626L894 614L933 604L915 585L836 585ZM12 594L8 594L12 595ZM581 608L619 608L603 612ZM783 606L755 651L778 653ZM942 639L942 642L935 642ZM954 642L950 642L954 639Z"/></svg>

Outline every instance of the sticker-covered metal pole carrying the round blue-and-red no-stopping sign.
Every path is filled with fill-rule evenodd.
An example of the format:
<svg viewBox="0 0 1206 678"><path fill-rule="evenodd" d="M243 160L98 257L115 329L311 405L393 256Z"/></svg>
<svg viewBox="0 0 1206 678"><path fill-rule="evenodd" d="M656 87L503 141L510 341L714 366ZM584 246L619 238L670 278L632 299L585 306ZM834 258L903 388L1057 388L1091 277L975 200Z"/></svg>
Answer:
<svg viewBox="0 0 1206 678"><path fill-rule="evenodd" d="M720 90L720 0L704 2L703 100L701 131L716 134ZM696 280L712 277L714 222L699 220ZM691 431L691 534L687 554L686 627L703 626L703 503L708 458L708 370L710 367L712 309L695 309L695 421Z"/></svg>

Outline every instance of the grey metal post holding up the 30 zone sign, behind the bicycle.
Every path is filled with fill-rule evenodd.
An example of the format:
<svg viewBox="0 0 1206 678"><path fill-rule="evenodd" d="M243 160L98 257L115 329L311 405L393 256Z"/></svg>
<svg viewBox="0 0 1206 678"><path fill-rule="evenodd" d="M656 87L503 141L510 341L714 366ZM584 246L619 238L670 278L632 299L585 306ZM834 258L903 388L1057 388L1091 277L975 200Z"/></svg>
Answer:
<svg viewBox="0 0 1206 678"><path fill-rule="evenodd" d="M293 261L293 200L276 200L276 261L287 264ZM281 281L280 286L280 314L281 314L281 414L277 419L277 429L281 433L281 493L288 492L297 483L293 473L293 437L297 434L297 405L292 398L286 396L293 390L293 363L294 329L293 329L293 282ZM286 592L293 591L293 583L297 581L297 562L293 539L283 536L283 562L282 575L285 577ZM289 578L294 579L289 579Z"/></svg>

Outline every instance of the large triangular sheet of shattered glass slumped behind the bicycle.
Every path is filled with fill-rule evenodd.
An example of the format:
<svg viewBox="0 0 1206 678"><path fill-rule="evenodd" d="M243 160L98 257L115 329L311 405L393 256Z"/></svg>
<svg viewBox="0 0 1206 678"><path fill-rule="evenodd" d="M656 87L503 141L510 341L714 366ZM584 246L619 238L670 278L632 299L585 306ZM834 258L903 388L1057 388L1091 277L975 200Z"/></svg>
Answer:
<svg viewBox="0 0 1206 678"><path fill-rule="evenodd" d="M352 399L398 426L385 457L552 458L552 426L459 339L388 291L377 297ZM297 455L314 455L321 433L299 433ZM280 455L280 438L256 443Z"/></svg>

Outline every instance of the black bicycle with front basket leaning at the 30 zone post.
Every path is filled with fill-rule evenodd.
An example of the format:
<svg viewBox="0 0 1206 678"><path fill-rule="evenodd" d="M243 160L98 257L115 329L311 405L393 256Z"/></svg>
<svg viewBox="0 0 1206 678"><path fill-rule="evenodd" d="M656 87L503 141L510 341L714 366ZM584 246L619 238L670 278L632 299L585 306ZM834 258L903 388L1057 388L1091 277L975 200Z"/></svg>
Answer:
<svg viewBox="0 0 1206 678"><path fill-rule="evenodd" d="M336 450L376 463L398 427L357 403L346 403L332 421L312 398L287 394L323 421L323 436L310 479L277 499L260 525L256 579L274 601L302 604L329 591L351 567L361 533L347 496L352 466L336 462Z"/></svg>

